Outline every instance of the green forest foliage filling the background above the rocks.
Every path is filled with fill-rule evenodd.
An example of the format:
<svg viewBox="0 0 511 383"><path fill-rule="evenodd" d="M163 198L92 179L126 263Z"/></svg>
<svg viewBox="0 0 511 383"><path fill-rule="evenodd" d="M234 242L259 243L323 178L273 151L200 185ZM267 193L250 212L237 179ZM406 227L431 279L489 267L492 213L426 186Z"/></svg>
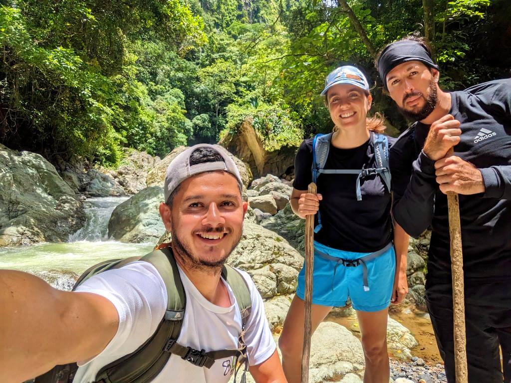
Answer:
<svg viewBox="0 0 511 383"><path fill-rule="evenodd" d="M268 148L331 130L319 97L335 67L376 80L336 2L13 0L0 6L0 142L116 163L216 142L249 119ZM434 0L442 86L508 76L508 0ZM379 49L424 25L422 0L351 0ZM506 75L507 74L507 75ZM370 82L373 82L370 81ZM374 109L406 126L377 83Z"/></svg>

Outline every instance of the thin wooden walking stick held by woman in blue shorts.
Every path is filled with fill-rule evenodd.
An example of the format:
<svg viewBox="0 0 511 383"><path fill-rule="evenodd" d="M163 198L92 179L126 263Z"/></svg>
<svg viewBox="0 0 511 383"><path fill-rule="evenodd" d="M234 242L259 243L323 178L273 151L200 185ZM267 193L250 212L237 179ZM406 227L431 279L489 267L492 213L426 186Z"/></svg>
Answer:
<svg viewBox="0 0 511 383"><path fill-rule="evenodd" d="M308 193L316 194L316 184L309 184ZM309 383L309 356L312 336L312 270L314 268L314 214L305 218L305 322L304 348L301 353L301 383Z"/></svg>

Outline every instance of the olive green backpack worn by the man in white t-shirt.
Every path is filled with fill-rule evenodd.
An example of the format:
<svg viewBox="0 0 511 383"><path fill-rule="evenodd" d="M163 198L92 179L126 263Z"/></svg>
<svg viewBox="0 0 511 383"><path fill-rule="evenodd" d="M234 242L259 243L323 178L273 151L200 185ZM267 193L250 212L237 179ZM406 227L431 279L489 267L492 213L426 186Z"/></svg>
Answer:
<svg viewBox="0 0 511 383"><path fill-rule="evenodd" d="M238 348L205 352L176 342L181 331L182 319L186 308L186 295L179 276L176 261L170 247L154 250L143 257L107 260L85 271L73 290L85 280L106 270L119 269L130 262L143 260L152 264L167 286L168 304L154 334L142 346L106 366L96 375L95 383L148 383L167 364L170 355L179 355L183 360L198 367L211 368L215 360L235 356L238 368L244 365L242 381L248 369L246 345L243 339L245 325L251 312L250 292L243 276L234 268L224 266L222 277L234 292L240 308L242 331L238 338ZM55 366L47 373L35 378L35 383L72 383L78 370L76 363Z"/></svg>

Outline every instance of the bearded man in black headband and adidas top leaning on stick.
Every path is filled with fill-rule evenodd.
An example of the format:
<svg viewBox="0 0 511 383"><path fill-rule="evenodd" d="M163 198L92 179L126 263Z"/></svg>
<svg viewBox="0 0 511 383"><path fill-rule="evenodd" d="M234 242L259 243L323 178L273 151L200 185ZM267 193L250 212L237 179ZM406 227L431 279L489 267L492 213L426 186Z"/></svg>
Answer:
<svg viewBox="0 0 511 383"><path fill-rule="evenodd" d="M392 146L394 219L411 236L432 228L426 301L455 382L447 192L459 194L470 383L511 379L511 81L464 91L438 86L426 42L408 36L376 67L401 112L415 121ZM454 147L454 155L447 156Z"/></svg>

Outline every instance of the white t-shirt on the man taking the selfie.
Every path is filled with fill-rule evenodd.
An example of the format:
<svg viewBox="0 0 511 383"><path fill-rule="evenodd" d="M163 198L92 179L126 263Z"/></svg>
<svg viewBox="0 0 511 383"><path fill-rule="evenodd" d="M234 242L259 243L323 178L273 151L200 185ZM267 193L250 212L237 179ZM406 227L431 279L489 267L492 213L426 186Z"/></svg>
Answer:
<svg viewBox="0 0 511 383"><path fill-rule="evenodd" d="M241 273L247 281L252 299L245 342L249 364L253 366L266 361L276 346L261 295L250 276L243 271ZM205 351L236 348L241 331L241 315L230 286L221 279L227 286L232 305L220 307L205 299L181 269L179 274L187 296L187 306L177 342ZM75 376L74 383L90 383L103 366L133 352L154 333L167 309L167 289L154 266L137 261L88 279L77 292L99 294L110 300L119 313L119 328L113 339L100 354L80 365ZM234 373L233 360L234 357L217 360L208 369L171 355L152 383L227 383Z"/></svg>

